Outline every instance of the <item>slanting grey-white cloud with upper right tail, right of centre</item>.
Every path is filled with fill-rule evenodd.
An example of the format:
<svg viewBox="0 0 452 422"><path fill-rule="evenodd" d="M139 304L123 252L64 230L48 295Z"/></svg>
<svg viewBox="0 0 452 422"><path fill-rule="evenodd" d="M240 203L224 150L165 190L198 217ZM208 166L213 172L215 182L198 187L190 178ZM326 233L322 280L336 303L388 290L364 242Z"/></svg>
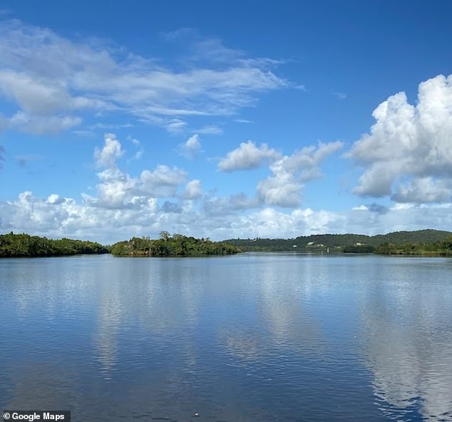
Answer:
<svg viewBox="0 0 452 422"><path fill-rule="evenodd" d="M272 176L257 185L258 196L266 205L299 206L304 184L322 176L319 165L342 146L340 141L319 143L274 161L270 166Z"/></svg>

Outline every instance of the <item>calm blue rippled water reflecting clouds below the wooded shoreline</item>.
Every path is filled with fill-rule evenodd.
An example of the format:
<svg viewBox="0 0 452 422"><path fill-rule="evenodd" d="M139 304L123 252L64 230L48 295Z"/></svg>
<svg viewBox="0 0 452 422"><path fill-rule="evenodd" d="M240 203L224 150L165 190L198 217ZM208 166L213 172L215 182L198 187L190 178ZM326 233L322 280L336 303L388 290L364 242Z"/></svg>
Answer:
<svg viewBox="0 0 452 422"><path fill-rule="evenodd" d="M2 259L0 299L0 410L452 421L452 259Z"/></svg>

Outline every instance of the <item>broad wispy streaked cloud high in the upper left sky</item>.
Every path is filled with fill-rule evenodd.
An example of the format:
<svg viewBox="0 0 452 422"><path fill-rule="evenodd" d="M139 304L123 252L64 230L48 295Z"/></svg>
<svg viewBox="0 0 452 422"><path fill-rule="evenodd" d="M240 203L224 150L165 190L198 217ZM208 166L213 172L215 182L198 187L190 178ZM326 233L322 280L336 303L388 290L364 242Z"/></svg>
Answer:
<svg viewBox="0 0 452 422"><path fill-rule="evenodd" d="M219 40L196 45L202 41L211 52L221 50ZM199 51L192 49L192 56ZM2 21L0 97L18 108L15 119L7 117L12 126L33 133L70 129L86 111L127 111L177 134L190 116L234 114L254 104L258 94L289 85L273 73L277 61L222 51L230 51L228 61L203 54L175 70L111 44L72 41L50 29Z"/></svg>

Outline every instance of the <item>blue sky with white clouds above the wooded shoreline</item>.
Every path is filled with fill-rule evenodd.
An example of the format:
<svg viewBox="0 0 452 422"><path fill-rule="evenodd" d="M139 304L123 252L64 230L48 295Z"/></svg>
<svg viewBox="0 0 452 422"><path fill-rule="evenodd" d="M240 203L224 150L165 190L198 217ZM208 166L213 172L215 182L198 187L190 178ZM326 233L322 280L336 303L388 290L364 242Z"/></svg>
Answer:
<svg viewBox="0 0 452 422"><path fill-rule="evenodd" d="M0 233L452 231L450 1L0 4Z"/></svg>

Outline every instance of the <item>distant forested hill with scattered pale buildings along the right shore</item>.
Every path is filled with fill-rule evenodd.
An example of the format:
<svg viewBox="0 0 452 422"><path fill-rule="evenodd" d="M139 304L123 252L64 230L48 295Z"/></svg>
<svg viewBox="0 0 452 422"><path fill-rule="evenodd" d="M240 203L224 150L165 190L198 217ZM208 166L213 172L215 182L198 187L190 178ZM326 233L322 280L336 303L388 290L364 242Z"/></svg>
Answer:
<svg viewBox="0 0 452 422"><path fill-rule="evenodd" d="M418 230L418 231L394 231L376 236L364 234L313 234L310 236L299 236L297 238L254 238L254 239L228 239L230 243L245 251L299 251L299 250L322 250L329 248L330 251L341 251L351 246L380 246L383 243L402 245L407 243L436 243L446 241L452 236L451 231L442 230Z"/></svg>

